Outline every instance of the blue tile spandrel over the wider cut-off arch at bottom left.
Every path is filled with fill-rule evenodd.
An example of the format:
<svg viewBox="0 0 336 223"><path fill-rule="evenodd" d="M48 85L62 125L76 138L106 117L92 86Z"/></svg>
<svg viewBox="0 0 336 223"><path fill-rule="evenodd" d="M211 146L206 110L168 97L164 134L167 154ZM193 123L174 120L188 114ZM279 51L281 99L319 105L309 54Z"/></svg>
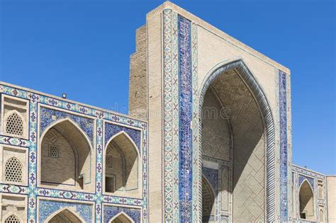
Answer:
<svg viewBox="0 0 336 223"><path fill-rule="evenodd" d="M44 222L45 219L53 215L53 213L61 210L64 207L73 208L85 222L93 222L92 205L78 204L75 202L60 202L54 200L40 200L38 222ZM71 208L69 210L71 210Z"/></svg>

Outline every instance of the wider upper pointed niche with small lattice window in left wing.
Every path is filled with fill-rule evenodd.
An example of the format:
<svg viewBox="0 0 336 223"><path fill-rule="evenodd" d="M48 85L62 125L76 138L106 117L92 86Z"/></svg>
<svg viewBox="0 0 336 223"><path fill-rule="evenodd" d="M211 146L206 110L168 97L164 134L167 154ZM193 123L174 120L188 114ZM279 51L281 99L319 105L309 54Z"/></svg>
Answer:
<svg viewBox="0 0 336 223"><path fill-rule="evenodd" d="M93 190L93 150L81 128L69 118L47 127L40 137L40 185Z"/></svg>

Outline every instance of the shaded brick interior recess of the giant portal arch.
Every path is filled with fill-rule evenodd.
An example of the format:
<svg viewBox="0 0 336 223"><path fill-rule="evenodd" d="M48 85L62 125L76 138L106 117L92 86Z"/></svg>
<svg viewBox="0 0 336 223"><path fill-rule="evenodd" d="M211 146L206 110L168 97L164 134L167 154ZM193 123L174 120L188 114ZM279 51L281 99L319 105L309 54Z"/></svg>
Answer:
<svg viewBox="0 0 336 223"><path fill-rule="evenodd" d="M210 76L202 92L202 166L203 171L206 167L208 172L203 174L209 178L209 169L218 171L212 178L218 181L215 213L220 214L211 219L264 222L266 214L269 214L267 218L272 217L271 212L265 211L265 201L272 200L267 198L264 185L274 180L274 176L265 177L267 153L274 152L274 129L266 131L264 123L274 128L273 120L262 90L256 86L257 81L244 79L248 75L253 77L250 73L247 75L245 64L237 61L226 66L213 72L217 74ZM249 86L251 82L254 84ZM253 88L258 90L257 96ZM263 118L266 115L268 120ZM267 141L265 132L273 141ZM272 171L274 163L271 159L268 161ZM203 218L203 222L212 221Z"/></svg>

